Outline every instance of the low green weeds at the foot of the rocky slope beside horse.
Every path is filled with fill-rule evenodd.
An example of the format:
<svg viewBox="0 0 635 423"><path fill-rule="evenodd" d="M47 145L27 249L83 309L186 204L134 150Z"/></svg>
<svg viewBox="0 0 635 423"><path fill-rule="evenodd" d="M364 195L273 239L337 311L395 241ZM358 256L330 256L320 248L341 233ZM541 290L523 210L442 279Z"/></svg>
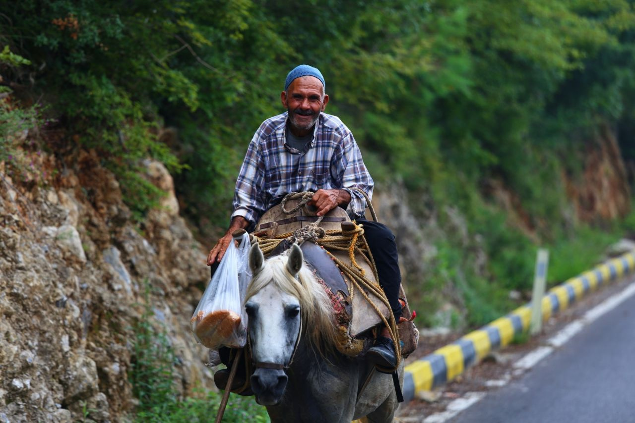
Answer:
<svg viewBox="0 0 635 423"><path fill-rule="evenodd" d="M174 370L177 359L166 330L155 318L147 281L144 313L133 330L135 340L129 379L133 394L139 400L135 421L208 422L218 410L221 395L198 389L196 397L177 398ZM269 422L269 417L265 408L255 404L252 398L234 395L227 403L223 421L264 423Z"/></svg>

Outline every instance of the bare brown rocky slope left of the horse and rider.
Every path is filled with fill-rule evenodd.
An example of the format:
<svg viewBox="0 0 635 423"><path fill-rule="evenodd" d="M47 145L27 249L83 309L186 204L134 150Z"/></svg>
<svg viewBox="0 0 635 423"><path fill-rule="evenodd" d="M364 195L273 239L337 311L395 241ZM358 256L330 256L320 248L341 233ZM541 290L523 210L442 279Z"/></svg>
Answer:
<svg viewBox="0 0 635 423"><path fill-rule="evenodd" d="M168 195L142 228L94 152L39 155L29 172L39 183L0 169L0 420L72 422L83 410L122 420L134 407L131 328L146 285L177 353L179 389L209 384L206 351L189 330L208 268L166 169L147 162Z"/></svg>

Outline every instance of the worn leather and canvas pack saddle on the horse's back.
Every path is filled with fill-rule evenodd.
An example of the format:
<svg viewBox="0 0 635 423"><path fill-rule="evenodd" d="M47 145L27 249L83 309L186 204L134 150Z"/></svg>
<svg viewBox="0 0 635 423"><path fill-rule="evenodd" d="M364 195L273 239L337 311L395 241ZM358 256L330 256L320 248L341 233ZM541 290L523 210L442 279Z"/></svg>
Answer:
<svg viewBox="0 0 635 423"><path fill-rule="evenodd" d="M298 201L299 200L288 200L288 202L286 202L286 208L295 208ZM305 228L317 221L318 216L315 215L315 211L316 209L311 205L304 205L293 214L287 214L282 210L281 205L276 205L265 212L262 218L260 218L256 226L255 234L259 236L266 234L268 238L274 238L276 235L293 232L298 228ZM324 216L319 223L319 227L324 230L342 230L342 228L347 227L347 224L351 226L352 224L350 222L351 219L344 209L335 207L335 209L332 209ZM277 251L272 252L271 255L279 254L290 246L291 245L285 245L285 242L281 242L276 249ZM319 245L313 242L304 242L300 248L302 249L304 260L308 264L308 267L313 271L314 275L316 275L319 280L323 280L324 285L326 285L325 288L331 296L331 302L334 303L335 312L339 314L336 316L336 320L338 325L340 325L340 331L347 332L343 334L347 335L347 341L344 342L343 336L342 346L341 348L338 346L338 349L345 355L358 355L364 348L363 340L370 338L371 330L382 323L382 319L377 314L377 311L382 313L385 318L388 318L391 315L391 310L384 304L382 299L370 290L364 289L366 297L368 297L373 304L368 303L368 301L364 299L364 296L358 292L358 288L342 275L340 269L337 268L333 259L331 259L331 256ZM329 252L343 263L351 263L348 251L329 250ZM364 270L364 274L371 282L378 283L378 281L375 280L369 257L361 257L361 254L357 254L356 262ZM403 300L403 316L410 316L411 310L408 306L403 285L399 287L399 298ZM338 304L340 304L341 307L338 306ZM342 309L344 316L342 316ZM418 330L413 322L403 322L399 324L398 330L399 338L401 339L401 355L405 358L417 348Z"/></svg>

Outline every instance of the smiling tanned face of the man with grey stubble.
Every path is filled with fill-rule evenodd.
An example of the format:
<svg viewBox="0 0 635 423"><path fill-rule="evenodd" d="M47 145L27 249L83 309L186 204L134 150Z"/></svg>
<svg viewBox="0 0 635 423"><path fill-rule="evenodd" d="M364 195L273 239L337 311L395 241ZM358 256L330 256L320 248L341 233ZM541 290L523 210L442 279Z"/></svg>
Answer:
<svg viewBox="0 0 635 423"><path fill-rule="evenodd" d="M289 112L290 129L296 136L309 134L328 103L322 82L313 76L302 76L291 82L281 94L281 100Z"/></svg>

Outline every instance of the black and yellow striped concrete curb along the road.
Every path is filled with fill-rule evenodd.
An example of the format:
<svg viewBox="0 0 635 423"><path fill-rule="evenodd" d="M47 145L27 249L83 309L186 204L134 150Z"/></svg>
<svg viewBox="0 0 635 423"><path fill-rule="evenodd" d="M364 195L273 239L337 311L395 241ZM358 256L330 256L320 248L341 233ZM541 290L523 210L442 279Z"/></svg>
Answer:
<svg viewBox="0 0 635 423"><path fill-rule="evenodd" d="M542 320L546 321L557 311L566 309L587 292L597 289L635 270L635 251L606 261L592 270L571 278L542 297ZM509 344L514 335L528 330L531 321L531 304L519 307L507 316L498 318L481 329L474 330L449 345L414 361L404 371L404 400L410 401L420 391L430 391L451 381L457 375L491 351Z"/></svg>

